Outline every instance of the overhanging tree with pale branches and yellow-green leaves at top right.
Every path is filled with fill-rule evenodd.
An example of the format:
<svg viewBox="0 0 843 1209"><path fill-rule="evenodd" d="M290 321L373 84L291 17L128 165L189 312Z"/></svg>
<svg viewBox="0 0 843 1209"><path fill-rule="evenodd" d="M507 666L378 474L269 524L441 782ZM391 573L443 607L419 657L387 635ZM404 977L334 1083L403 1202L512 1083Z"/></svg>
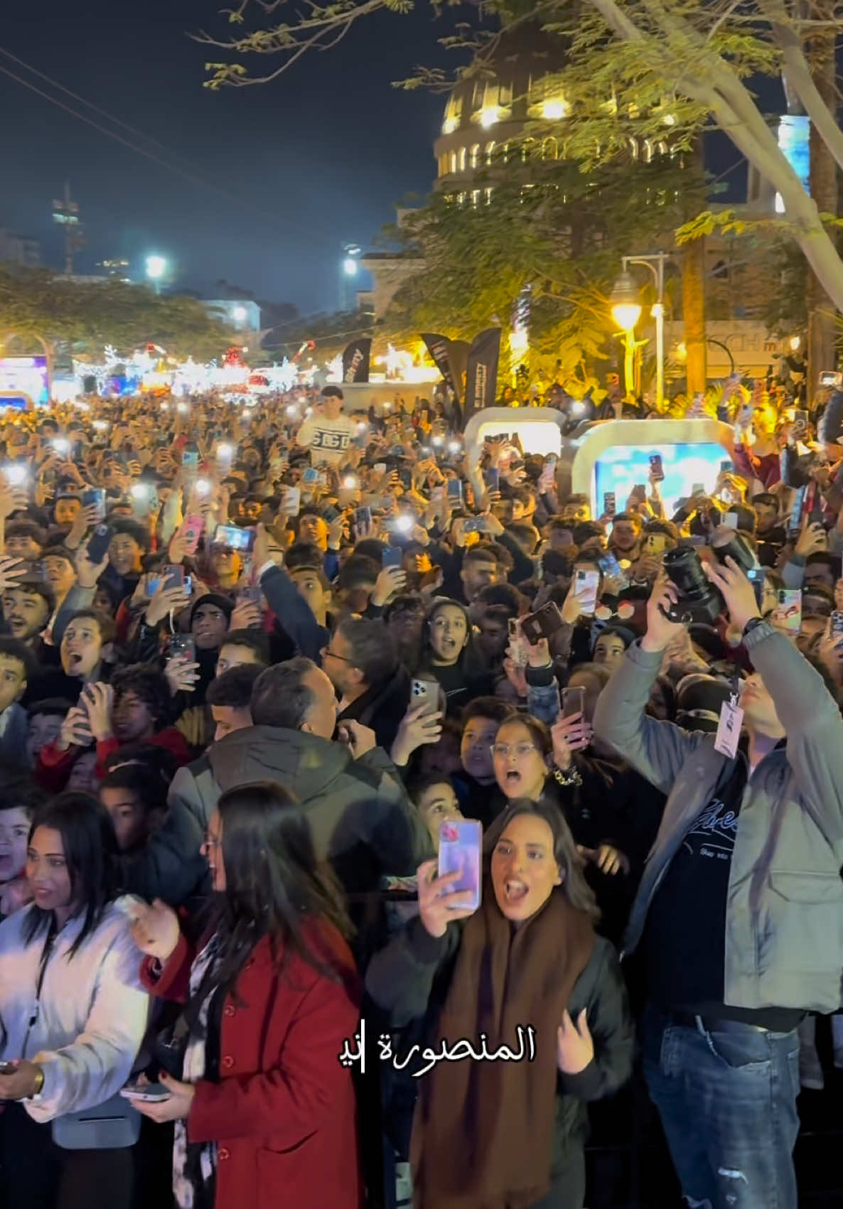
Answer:
<svg viewBox="0 0 843 1209"><path fill-rule="evenodd" d="M611 162L630 137L691 147L716 127L773 185L784 206L783 230L799 245L818 282L843 310L843 259L827 225L779 147L751 91L757 75L781 76L793 111L810 118L843 168L843 131L812 74L812 39L839 29L837 0L486 0L473 22L443 41L469 52L466 73L495 60L501 33L541 22L559 39L566 66L559 85L568 102L565 155L593 167ZM229 11L232 35L206 36L225 62L209 63L210 87L265 82L313 51L325 51L379 11L400 13L411 0L330 0L301 12L293 0L239 0ZM441 15L443 6L431 4ZM260 29L248 29L252 16ZM269 16L269 24L267 24ZM462 13L461 13L462 16ZM496 23L491 29L489 22ZM486 22L484 25L483 22ZM400 36L400 35L398 35ZM269 68L254 75L243 59ZM443 86L422 71L415 83Z"/></svg>

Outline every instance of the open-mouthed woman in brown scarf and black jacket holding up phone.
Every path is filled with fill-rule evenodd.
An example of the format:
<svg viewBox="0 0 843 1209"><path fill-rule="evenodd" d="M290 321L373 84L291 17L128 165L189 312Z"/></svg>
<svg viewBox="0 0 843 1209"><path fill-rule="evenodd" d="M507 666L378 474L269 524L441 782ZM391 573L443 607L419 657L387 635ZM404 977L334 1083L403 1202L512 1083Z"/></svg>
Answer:
<svg viewBox="0 0 843 1209"><path fill-rule="evenodd" d="M510 804L484 849L480 907L454 891L458 874L421 866L420 916L366 974L391 1026L422 1020L429 1046L410 1058L395 1043L406 1071L427 1070L415 1209L581 1209L583 1101L617 1091L633 1060L620 967L555 805Z"/></svg>

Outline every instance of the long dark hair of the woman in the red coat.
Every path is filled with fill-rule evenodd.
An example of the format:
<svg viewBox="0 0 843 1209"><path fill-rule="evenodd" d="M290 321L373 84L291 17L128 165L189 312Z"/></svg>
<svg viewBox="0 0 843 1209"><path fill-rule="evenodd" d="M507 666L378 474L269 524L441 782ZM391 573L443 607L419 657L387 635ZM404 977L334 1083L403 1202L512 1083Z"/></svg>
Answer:
<svg viewBox="0 0 843 1209"><path fill-rule="evenodd" d="M220 942L214 982L227 991L255 944L270 937L273 954L296 953L321 974L336 971L302 924L328 920L343 936L351 924L333 874L313 854L307 816L298 799L272 781L253 781L227 789L216 809L223 822L225 891L216 904Z"/></svg>

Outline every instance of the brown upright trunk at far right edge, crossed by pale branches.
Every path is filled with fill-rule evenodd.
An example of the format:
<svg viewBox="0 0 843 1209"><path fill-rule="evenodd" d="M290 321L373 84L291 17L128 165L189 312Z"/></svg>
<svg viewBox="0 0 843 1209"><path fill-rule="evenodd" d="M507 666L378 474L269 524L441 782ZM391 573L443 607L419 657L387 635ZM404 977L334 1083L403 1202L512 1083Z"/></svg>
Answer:
<svg viewBox="0 0 843 1209"><path fill-rule="evenodd" d="M822 100L833 114L835 33L812 39L808 53L812 75ZM821 214L837 213L837 162L828 146L810 127L810 196ZM822 370L835 368L835 303L810 270L808 279L808 398L813 395Z"/></svg>

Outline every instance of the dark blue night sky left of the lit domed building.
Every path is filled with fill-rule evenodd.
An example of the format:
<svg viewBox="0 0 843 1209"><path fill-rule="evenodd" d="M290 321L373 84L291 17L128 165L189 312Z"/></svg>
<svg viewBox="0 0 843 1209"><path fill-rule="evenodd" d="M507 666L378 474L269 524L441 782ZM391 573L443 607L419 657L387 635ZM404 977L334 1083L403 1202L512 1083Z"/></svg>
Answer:
<svg viewBox="0 0 843 1209"><path fill-rule="evenodd" d="M0 227L39 238L42 260L59 267L51 203L67 179L88 236L77 272L123 258L137 276L156 251L175 262L179 285L210 293L225 278L258 297L295 302L302 314L336 310L342 245L370 247L397 202L431 190L444 99L391 81L416 63L443 62L435 37L444 30L427 6L409 17L385 13L273 83L210 92L203 64L224 54L187 33L225 36L219 7L218 0L40 0L6 11L0 47L168 151L2 54L1 68L233 197L184 180L0 73Z"/></svg>

